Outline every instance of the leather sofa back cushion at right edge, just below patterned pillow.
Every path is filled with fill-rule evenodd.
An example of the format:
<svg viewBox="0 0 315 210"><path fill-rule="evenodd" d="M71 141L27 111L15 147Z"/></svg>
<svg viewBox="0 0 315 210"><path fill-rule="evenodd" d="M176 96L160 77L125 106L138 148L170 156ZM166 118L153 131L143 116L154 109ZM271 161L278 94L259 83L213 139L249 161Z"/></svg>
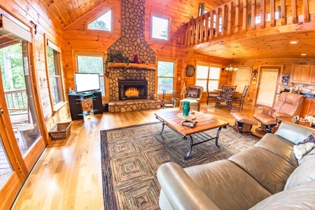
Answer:
<svg viewBox="0 0 315 210"><path fill-rule="evenodd" d="M284 190L300 186L311 180L315 180L315 155L311 155L308 160L290 174Z"/></svg>

